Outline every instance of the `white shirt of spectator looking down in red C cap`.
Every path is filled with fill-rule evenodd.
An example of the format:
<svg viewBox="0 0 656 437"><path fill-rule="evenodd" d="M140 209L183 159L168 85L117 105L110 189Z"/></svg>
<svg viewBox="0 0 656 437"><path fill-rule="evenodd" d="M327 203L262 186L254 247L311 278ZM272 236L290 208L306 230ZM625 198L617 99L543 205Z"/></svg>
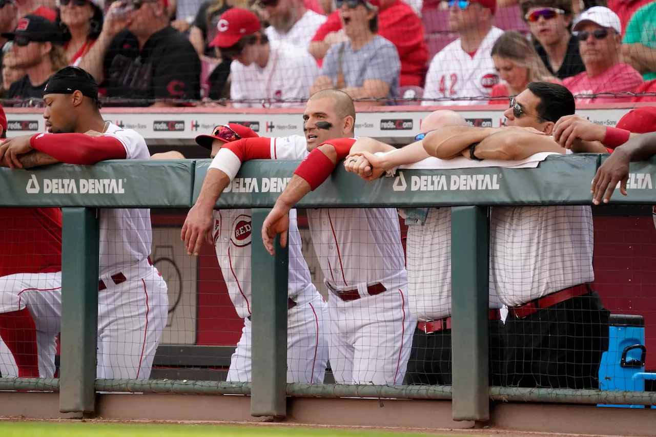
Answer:
<svg viewBox="0 0 656 437"><path fill-rule="evenodd" d="M289 108L303 106L319 73L316 60L298 47L273 41L264 68L253 62L230 64L230 99L257 100L234 102L235 108Z"/></svg>

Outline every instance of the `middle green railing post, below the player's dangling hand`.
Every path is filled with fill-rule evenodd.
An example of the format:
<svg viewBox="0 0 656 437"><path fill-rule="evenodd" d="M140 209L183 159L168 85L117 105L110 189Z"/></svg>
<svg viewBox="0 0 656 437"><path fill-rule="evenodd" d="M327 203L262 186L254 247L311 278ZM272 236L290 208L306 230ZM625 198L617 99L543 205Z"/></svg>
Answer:
<svg viewBox="0 0 656 437"><path fill-rule="evenodd" d="M272 257L260 232L270 209L253 209L251 235L251 415L287 415L287 247Z"/></svg>

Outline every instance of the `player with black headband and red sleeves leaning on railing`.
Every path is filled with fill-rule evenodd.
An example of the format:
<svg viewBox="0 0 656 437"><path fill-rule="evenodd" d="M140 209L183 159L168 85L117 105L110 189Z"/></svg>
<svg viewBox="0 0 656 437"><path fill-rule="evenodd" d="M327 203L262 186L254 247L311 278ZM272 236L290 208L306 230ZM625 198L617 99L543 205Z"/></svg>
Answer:
<svg viewBox="0 0 656 437"><path fill-rule="evenodd" d="M0 159L10 167L24 167L21 157L33 151L37 161L82 165L150 157L142 136L102 119L98 85L84 70L66 67L52 75L43 101L45 125L54 135L5 141ZM168 308L166 283L150 262L151 244L150 210L100 210L98 378L150 376ZM16 293L10 302L19 308L20 298ZM47 318L59 323L60 305L51 310Z"/></svg>

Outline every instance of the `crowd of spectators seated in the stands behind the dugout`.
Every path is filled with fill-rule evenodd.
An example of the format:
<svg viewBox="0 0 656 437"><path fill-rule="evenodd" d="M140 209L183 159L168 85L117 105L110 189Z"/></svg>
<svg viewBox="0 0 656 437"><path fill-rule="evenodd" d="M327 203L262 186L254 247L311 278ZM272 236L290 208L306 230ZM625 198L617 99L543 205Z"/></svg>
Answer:
<svg viewBox="0 0 656 437"><path fill-rule="evenodd" d="M531 81L562 83L578 103L656 100L656 1L0 5L5 106L40 105L66 65L91 73L109 106L283 108L327 88L367 106L506 104ZM501 9L514 24L497 22Z"/></svg>

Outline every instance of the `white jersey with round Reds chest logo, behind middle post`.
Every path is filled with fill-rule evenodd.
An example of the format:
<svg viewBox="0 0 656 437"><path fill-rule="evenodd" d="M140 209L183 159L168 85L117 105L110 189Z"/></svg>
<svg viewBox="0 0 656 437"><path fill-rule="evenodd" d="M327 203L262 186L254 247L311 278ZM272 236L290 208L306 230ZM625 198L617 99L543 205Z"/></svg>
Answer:
<svg viewBox="0 0 656 437"><path fill-rule="evenodd" d="M251 210L214 211L212 237L230 300L241 318L251 315ZM259 238L259 234L257 234ZM319 295L301 253L296 210L289 211L289 284L287 295L299 304Z"/></svg>

